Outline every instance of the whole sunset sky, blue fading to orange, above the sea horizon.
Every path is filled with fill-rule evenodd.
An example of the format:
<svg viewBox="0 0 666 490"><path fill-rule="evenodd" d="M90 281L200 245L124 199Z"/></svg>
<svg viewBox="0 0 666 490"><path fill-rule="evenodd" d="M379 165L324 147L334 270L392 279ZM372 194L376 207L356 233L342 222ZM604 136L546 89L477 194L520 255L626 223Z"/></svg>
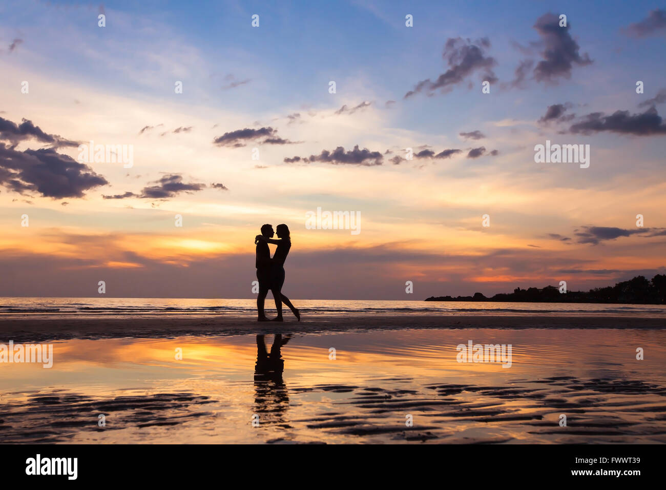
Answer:
<svg viewBox="0 0 666 490"><path fill-rule="evenodd" d="M3 1L0 295L250 298L264 223L292 299L666 273L665 42L652 1Z"/></svg>

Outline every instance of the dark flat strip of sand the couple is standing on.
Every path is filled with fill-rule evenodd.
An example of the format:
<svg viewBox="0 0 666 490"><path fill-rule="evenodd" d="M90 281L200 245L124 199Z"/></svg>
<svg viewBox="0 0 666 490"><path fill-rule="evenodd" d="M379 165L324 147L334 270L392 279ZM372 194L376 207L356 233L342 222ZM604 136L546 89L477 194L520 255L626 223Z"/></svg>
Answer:
<svg viewBox="0 0 666 490"><path fill-rule="evenodd" d="M0 317L0 341L163 338L181 335L332 333L404 329L664 329L663 317L618 315L304 315L284 323L257 322L250 315Z"/></svg>

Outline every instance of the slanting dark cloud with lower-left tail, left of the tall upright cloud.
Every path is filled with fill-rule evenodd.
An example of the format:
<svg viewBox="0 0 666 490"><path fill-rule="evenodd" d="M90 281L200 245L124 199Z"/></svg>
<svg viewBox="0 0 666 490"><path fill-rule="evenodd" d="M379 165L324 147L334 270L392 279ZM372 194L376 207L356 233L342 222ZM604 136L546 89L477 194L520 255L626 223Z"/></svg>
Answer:
<svg viewBox="0 0 666 490"><path fill-rule="evenodd" d="M413 90L405 94L404 98L407 99L420 92L425 92L427 95L434 95L437 90L440 93L446 93L455 85L479 71L482 72L484 80L495 83L497 77L492 69L497 65L497 62L493 57L486 55L488 48L490 48L490 41L486 37L474 41L474 43L470 39L450 37L444 45L444 53L442 54L448 65L448 70L442 73L436 81L430 79L420 81Z"/></svg>

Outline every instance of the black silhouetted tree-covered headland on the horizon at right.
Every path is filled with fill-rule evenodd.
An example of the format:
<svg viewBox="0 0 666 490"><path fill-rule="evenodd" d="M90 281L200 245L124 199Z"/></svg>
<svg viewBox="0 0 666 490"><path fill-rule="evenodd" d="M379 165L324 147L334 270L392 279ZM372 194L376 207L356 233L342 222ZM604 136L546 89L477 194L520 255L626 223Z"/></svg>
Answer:
<svg viewBox="0 0 666 490"><path fill-rule="evenodd" d="M431 296L426 301L511 301L517 303L636 303L643 305L666 304L666 275L657 274L648 281L642 275L615 286L595 287L587 291L560 293L555 286L543 289L529 287L513 290L513 293L498 293L487 298L482 293L474 296Z"/></svg>

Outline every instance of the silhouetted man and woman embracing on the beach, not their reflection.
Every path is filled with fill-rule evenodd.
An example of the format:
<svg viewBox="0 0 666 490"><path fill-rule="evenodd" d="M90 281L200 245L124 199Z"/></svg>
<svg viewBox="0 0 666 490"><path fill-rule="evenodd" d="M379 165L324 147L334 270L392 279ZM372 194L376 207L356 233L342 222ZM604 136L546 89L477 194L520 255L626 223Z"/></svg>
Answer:
<svg viewBox="0 0 666 490"><path fill-rule="evenodd" d="M264 314L264 300L268 294L268 289L273 293L275 309L278 311L278 316L273 321L282 321L282 303L287 305L294 316L300 320L298 309L282 293L284 261L291 248L289 228L287 225L278 225L276 231L278 232L278 240L272 239L275 235L272 225L264 225L261 227L261 235L256 235L254 238L254 243L256 243L256 278L259 280L259 295L256 297L258 321L269 321ZM268 243L278 246L272 259L270 258Z"/></svg>

